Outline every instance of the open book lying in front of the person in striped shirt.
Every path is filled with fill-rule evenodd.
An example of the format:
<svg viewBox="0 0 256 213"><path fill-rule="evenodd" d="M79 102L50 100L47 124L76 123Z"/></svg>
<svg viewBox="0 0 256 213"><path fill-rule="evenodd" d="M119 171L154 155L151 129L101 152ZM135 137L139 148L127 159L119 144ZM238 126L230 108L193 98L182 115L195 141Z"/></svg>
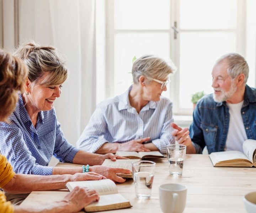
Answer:
<svg viewBox="0 0 256 213"><path fill-rule="evenodd" d="M142 158L164 158L164 155L158 151L153 152L123 152L117 151L116 155L130 158L130 159L142 159Z"/></svg>

